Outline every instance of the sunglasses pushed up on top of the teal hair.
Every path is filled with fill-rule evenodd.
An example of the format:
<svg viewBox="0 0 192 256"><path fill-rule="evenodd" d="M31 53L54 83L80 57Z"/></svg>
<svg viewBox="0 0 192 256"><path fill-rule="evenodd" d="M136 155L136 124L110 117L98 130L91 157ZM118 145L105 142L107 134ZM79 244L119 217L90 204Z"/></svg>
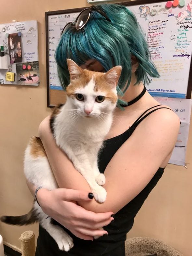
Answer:
<svg viewBox="0 0 192 256"><path fill-rule="evenodd" d="M86 8L84 10L82 10L79 15L77 16L76 20L74 22L68 22L62 32L61 32L61 36L63 33L65 33L66 30L68 30L69 28L71 28L72 26L75 26L76 30L80 30L82 29L85 24L89 21L89 17L90 17L90 14L92 11L97 11L98 13L100 13L101 15L103 15L103 17L105 17L105 19L107 21L110 21L111 20L109 19L109 17L107 17L107 15L102 11L100 10L99 8L97 8L96 6L91 6L89 8Z"/></svg>

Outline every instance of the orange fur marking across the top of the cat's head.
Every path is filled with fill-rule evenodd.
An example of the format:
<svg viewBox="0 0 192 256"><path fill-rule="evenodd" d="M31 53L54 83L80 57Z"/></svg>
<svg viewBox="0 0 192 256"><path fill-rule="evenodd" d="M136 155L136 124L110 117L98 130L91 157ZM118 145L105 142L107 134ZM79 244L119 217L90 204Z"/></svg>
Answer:
<svg viewBox="0 0 192 256"><path fill-rule="evenodd" d="M105 98L115 103L117 101L117 95L112 92L110 83L105 79L104 73L90 71L87 69L82 70L82 75L79 79L72 80L70 86L67 87L67 95L75 98L75 91L77 88L84 88L89 81L93 79L95 82L94 91L102 91L106 93Z"/></svg>

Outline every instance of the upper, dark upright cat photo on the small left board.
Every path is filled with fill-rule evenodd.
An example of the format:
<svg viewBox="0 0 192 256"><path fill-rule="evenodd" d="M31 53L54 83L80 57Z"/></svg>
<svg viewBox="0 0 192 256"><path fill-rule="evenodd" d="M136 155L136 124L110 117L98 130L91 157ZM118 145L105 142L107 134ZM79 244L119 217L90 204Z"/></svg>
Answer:
<svg viewBox="0 0 192 256"><path fill-rule="evenodd" d="M18 33L9 34L8 49L11 64L22 62L21 36L18 36Z"/></svg>

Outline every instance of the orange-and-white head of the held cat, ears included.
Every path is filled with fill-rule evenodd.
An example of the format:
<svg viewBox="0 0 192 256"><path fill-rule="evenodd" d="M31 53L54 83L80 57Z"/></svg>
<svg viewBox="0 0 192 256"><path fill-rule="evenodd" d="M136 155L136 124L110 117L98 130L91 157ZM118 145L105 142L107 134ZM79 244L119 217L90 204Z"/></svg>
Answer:
<svg viewBox="0 0 192 256"><path fill-rule="evenodd" d="M72 60L67 60L71 82L67 96L76 112L86 118L104 118L117 104L116 86L121 66L107 73L81 69Z"/></svg>

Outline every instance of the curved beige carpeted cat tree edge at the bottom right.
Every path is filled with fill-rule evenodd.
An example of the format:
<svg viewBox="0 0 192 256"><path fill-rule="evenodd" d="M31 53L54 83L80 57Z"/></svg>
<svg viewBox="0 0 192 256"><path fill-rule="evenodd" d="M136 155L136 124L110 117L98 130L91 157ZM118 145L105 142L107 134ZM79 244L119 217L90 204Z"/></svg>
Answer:
<svg viewBox="0 0 192 256"><path fill-rule="evenodd" d="M184 256L170 245L149 237L133 237L125 241L126 256Z"/></svg>

